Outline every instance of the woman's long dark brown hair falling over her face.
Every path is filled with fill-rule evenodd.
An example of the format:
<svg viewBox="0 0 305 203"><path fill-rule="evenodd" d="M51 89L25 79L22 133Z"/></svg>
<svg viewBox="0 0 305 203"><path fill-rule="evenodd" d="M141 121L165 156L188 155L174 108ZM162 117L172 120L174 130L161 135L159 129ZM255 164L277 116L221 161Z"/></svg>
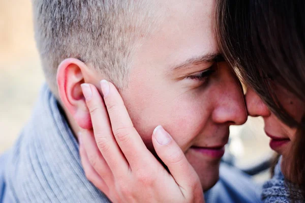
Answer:
<svg viewBox="0 0 305 203"><path fill-rule="evenodd" d="M298 129L289 172L305 197L305 119L296 121L275 91L280 85L305 102L305 3L217 0L216 17L225 59L279 119Z"/></svg>

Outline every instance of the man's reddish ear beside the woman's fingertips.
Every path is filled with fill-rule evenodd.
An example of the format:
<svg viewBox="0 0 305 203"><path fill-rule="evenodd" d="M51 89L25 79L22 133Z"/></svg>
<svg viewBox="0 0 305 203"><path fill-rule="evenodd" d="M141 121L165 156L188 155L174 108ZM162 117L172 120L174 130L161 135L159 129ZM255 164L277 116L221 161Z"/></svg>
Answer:
<svg viewBox="0 0 305 203"><path fill-rule="evenodd" d="M77 125L83 129L90 129L92 122L80 86L85 82L86 71L88 67L80 60L64 60L58 66L57 86L64 108L69 111Z"/></svg>

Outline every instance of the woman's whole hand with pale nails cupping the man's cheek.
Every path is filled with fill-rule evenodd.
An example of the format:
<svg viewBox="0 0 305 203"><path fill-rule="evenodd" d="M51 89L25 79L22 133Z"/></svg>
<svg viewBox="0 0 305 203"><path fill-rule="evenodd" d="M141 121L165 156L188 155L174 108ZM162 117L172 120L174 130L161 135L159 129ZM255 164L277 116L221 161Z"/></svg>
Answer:
<svg viewBox="0 0 305 203"><path fill-rule="evenodd" d="M204 202L194 168L172 137L158 126L154 148L170 173L147 150L115 86L101 81L103 99L82 84L93 131L82 130L80 156L86 177L112 202Z"/></svg>

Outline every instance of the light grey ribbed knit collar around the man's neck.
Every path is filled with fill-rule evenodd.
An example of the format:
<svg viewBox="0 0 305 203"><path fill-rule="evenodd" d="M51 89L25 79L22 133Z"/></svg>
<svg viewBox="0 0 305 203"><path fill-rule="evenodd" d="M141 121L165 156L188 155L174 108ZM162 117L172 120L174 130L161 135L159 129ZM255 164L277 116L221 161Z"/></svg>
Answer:
<svg viewBox="0 0 305 203"><path fill-rule="evenodd" d="M109 202L86 179L78 143L47 85L7 160L4 202Z"/></svg>

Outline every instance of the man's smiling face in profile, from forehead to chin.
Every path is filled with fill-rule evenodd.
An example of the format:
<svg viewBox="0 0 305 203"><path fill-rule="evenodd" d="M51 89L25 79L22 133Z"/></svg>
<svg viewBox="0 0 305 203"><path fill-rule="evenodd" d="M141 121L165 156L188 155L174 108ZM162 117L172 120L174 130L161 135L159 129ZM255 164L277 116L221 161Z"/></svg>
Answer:
<svg viewBox="0 0 305 203"><path fill-rule="evenodd" d="M215 2L168 2L163 23L136 51L128 88L120 94L147 148L153 151L151 135L162 125L205 190L218 180L222 151L203 148L224 146L229 125L246 122L246 108L231 69L214 61Z"/></svg>

